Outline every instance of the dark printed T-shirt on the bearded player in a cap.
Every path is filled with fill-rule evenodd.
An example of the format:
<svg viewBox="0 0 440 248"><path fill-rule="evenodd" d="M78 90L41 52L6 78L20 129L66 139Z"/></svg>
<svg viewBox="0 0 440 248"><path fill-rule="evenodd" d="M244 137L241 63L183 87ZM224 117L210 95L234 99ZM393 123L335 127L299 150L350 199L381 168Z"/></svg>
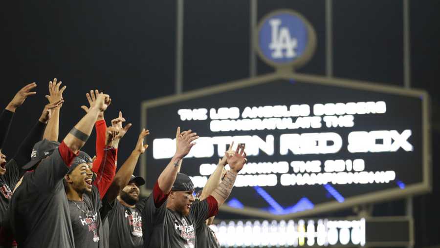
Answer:
<svg viewBox="0 0 440 248"><path fill-rule="evenodd" d="M117 199L113 201L112 209L108 213L110 227L110 248L142 248L142 210L144 202L139 201L136 207L126 207ZM106 197L103 198L103 203Z"/></svg>

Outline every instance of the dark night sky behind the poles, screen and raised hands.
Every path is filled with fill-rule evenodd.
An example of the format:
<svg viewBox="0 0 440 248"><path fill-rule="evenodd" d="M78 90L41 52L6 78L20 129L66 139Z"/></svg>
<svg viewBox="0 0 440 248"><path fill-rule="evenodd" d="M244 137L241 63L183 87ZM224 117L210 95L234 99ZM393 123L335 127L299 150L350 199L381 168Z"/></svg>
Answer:
<svg viewBox="0 0 440 248"><path fill-rule="evenodd" d="M38 94L16 113L6 154L12 156L39 117L47 82L56 77L67 85L60 138L83 115L85 93L98 88L112 98L107 120L122 110L133 123L121 141L119 158L124 160L141 128L140 103L174 94L176 1L19 0L1 5L0 105L25 83L39 85ZM316 52L299 71L325 75L325 0L258 0L258 18L279 8L302 13L317 32ZM402 0L334 0L334 76L403 85L402 9ZM440 175L435 153L440 132L439 10L438 0L410 1L411 83L432 97L434 179ZM185 1L184 91L247 78L249 35L248 0ZM258 62L259 75L272 71ZM158 121L166 121L166 115ZM92 150L89 142L86 151ZM439 188L434 182L433 193L414 200L417 247L440 243ZM374 213L403 214L402 206L402 201L378 204Z"/></svg>

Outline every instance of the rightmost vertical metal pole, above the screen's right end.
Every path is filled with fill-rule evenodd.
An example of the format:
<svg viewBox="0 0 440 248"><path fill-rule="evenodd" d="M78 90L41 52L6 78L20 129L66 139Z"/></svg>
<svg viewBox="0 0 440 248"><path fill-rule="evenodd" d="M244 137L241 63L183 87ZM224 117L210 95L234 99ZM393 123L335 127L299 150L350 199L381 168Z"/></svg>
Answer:
<svg viewBox="0 0 440 248"><path fill-rule="evenodd" d="M411 87L410 13L409 0L403 0L403 85Z"/></svg>

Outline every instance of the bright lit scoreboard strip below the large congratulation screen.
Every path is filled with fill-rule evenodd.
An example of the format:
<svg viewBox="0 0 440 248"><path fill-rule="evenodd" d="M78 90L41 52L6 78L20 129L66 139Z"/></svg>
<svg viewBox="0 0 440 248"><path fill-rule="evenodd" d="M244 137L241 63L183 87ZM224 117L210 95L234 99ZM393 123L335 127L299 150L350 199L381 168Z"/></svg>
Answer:
<svg viewBox="0 0 440 248"><path fill-rule="evenodd" d="M396 247L414 245L407 217L223 220L210 228L221 247Z"/></svg>

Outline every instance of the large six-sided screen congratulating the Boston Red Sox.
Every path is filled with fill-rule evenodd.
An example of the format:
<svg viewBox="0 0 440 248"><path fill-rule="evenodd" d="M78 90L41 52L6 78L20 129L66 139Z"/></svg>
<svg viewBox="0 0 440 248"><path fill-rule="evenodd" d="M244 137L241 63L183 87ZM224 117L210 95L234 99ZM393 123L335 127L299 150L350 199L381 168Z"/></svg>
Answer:
<svg viewBox="0 0 440 248"><path fill-rule="evenodd" d="M144 102L144 189L174 155L180 126L200 136L181 169L198 189L231 141L246 145L224 210L281 219L426 192L428 101L420 90L271 74Z"/></svg>

